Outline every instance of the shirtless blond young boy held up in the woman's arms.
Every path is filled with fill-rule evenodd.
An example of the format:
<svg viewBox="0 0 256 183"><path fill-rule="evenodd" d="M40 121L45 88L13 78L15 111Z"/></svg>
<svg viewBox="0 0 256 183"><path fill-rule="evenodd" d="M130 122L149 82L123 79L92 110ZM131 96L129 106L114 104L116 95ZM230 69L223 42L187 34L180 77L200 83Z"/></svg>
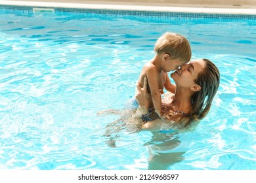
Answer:
<svg viewBox="0 0 256 183"><path fill-rule="evenodd" d="M156 55L144 65L139 76L138 84L144 84L144 77L148 79L148 92L151 93L152 105L161 117L161 94L163 88L174 93L175 85L167 73L190 61L191 49L188 40L177 33L164 33L156 41L154 51Z"/></svg>

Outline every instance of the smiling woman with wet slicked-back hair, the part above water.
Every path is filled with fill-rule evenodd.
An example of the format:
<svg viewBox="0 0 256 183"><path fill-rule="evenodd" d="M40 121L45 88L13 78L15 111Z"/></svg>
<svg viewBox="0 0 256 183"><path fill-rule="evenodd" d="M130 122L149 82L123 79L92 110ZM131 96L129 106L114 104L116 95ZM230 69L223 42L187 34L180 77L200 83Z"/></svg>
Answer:
<svg viewBox="0 0 256 183"><path fill-rule="evenodd" d="M163 116L156 118L148 113L151 103L147 92L146 78L144 87L137 85L136 99L140 105L137 114L142 114L142 129L160 131L166 125L190 127L198 124L211 107L211 103L219 88L219 69L208 59L196 59L177 69L171 74L175 81L175 93L167 93L163 97ZM146 82L147 83L147 82Z"/></svg>

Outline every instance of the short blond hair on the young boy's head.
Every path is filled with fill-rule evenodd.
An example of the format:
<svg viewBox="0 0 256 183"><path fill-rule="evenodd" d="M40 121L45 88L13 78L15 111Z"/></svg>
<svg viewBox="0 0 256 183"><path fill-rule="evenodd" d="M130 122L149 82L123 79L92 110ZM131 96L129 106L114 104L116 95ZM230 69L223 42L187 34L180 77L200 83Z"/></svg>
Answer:
<svg viewBox="0 0 256 183"><path fill-rule="evenodd" d="M156 41L156 54L169 54L171 59L181 59L188 63L191 59L191 48L188 40L177 33L166 32Z"/></svg>

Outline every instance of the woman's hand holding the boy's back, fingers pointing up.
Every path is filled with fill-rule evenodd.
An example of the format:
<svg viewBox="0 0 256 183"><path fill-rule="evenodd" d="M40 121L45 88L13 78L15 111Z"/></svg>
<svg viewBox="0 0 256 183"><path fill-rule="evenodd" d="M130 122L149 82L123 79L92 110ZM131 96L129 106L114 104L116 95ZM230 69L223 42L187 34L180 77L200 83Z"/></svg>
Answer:
<svg viewBox="0 0 256 183"><path fill-rule="evenodd" d="M141 88L139 83L137 82L137 86L136 86L137 90L135 93L135 98L137 99L137 102L139 103L140 107L146 108L146 110L148 110L148 108L152 104L152 97L150 93L148 93L147 86L148 86L148 80L146 77L144 77L143 88Z"/></svg>

